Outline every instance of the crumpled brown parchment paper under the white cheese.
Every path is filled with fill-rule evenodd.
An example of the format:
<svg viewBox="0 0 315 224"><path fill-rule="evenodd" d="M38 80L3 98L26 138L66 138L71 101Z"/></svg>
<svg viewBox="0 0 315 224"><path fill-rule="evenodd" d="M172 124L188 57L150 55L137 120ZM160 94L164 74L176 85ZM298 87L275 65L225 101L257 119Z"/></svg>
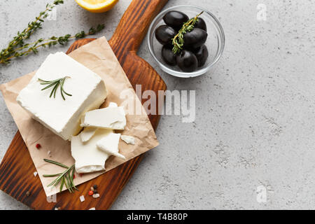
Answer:
<svg viewBox="0 0 315 224"><path fill-rule="evenodd" d="M116 102L118 106L128 105L131 102L134 103L135 106L141 106L139 98L134 92L130 81L105 37L83 45L71 52L69 56L87 66L87 68L91 69L104 79L106 88L109 90L109 96L101 107L108 106L109 102ZM44 162L43 159L47 158L55 160L68 166L73 165L74 160L71 156L70 142L64 141L62 138L50 132L50 130L43 127L43 125L36 120L32 119L15 100L20 90L22 90L22 88L29 83L31 77L34 76L34 73L35 71L12 80L9 83L2 84L0 85L0 90L3 93L8 110L12 114L15 123L18 125L22 138L29 149L38 176L43 184L45 194L50 196L58 193L59 188L58 186L57 188L47 187L55 177L44 178L43 174L60 173L64 171L64 168ZM124 96L125 99L120 99L121 92L124 92L124 95L127 94L127 97ZM155 132L142 106L140 115L127 114L126 118L127 125L125 130L120 133L130 135L136 139L135 145L125 144L125 142L120 139L119 150L120 153L125 155L127 160L137 157L141 153L145 153L151 148L158 146ZM36 148L36 144L41 144L39 150ZM51 157L48 157L49 151L51 152ZM126 162L127 160L124 161L111 156L109 160L106 161L105 172L118 167L118 165L123 164L123 162ZM97 172L84 174L83 176L76 175L74 183L76 185L84 183L103 173L104 172ZM38 178L38 176L34 178Z"/></svg>

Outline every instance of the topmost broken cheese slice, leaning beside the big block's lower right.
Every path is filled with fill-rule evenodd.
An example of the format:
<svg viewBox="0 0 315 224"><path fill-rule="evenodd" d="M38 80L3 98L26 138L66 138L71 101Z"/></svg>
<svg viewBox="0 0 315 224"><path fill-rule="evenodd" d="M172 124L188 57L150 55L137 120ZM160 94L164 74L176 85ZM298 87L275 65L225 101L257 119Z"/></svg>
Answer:
<svg viewBox="0 0 315 224"><path fill-rule="evenodd" d="M81 120L81 126L124 130L126 126L125 110L123 106L118 106L88 111Z"/></svg>

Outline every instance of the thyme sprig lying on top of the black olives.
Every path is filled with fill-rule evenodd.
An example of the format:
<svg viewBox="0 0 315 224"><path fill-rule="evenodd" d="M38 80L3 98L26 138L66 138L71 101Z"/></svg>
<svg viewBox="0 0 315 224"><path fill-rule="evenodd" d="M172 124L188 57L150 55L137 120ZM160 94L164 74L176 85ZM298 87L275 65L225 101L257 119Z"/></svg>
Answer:
<svg viewBox="0 0 315 224"><path fill-rule="evenodd" d="M194 18L191 18L190 20L188 20L188 22L185 22L183 24L183 27L181 27L181 29L179 30L179 33L176 34L176 36L174 36L174 38L172 39L172 44L173 44L172 50L175 55L181 52L181 50L183 50L183 44L184 44L183 35L194 29L196 22L198 22L198 17L202 15L202 13L204 13L204 11L196 15Z"/></svg>

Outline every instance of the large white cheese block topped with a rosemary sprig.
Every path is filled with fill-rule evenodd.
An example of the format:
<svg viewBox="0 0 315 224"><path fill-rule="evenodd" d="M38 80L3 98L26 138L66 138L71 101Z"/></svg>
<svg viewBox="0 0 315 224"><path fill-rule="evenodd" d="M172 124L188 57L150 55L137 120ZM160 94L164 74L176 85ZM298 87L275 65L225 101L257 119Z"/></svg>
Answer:
<svg viewBox="0 0 315 224"><path fill-rule="evenodd" d="M46 85L41 85L38 80L56 80L65 76L69 78L64 82L64 90L72 94L64 94L65 100L60 87L55 98L50 97L52 87L42 90ZM45 59L16 100L35 120L62 139L69 140L82 129L80 118L87 111L98 109L106 96L104 81L97 73L63 52L57 52Z"/></svg>

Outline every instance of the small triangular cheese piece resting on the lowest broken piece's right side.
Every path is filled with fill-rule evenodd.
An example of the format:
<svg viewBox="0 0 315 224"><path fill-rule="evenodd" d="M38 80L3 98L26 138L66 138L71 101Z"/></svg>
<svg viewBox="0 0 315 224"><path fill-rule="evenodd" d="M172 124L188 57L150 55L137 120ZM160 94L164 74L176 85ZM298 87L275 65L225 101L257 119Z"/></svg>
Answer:
<svg viewBox="0 0 315 224"><path fill-rule="evenodd" d="M111 133L97 141L97 147L109 155L115 155L118 158L125 160L125 156L118 153L119 139L120 134Z"/></svg>

